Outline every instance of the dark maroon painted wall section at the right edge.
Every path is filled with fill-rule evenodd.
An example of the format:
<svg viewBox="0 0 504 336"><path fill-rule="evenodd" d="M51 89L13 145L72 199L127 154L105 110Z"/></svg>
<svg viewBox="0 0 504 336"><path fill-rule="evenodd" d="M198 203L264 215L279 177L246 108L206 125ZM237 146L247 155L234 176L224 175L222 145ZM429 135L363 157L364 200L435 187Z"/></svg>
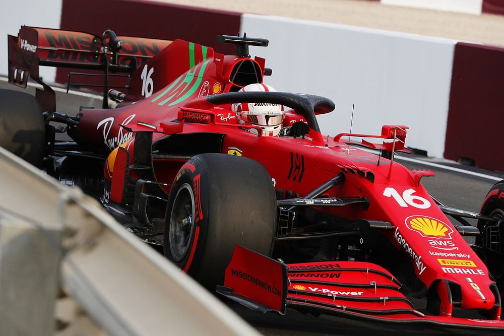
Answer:
<svg viewBox="0 0 504 336"><path fill-rule="evenodd" d="M445 158L504 171L504 48L457 43L453 60Z"/></svg>

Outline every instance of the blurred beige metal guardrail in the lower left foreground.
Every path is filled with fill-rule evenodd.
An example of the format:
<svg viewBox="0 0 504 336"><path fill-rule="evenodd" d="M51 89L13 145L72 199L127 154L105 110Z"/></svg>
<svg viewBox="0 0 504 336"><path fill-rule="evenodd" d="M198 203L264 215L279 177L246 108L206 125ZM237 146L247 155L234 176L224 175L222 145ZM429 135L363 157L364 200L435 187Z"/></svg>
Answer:
<svg viewBox="0 0 504 336"><path fill-rule="evenodd" d="M0 334L98 331L257 334L96 200L0 148Z"/></svg>

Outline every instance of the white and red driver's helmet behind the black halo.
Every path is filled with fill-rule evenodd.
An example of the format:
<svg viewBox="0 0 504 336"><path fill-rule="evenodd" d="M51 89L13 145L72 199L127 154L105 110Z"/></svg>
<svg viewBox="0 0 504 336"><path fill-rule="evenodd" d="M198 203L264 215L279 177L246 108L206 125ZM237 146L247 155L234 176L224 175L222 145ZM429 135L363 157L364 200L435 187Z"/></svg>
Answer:
<svg viewBox="0 0 504 336"><path fill-rule="evenodd" d="M275 92L269 85L256 83L249 84L239 92ZM237 103L232 110L240 124L253 124L261 126L263 136L276 137L282 128L282 119L285 115L283 105L271 103Z"/></svg>

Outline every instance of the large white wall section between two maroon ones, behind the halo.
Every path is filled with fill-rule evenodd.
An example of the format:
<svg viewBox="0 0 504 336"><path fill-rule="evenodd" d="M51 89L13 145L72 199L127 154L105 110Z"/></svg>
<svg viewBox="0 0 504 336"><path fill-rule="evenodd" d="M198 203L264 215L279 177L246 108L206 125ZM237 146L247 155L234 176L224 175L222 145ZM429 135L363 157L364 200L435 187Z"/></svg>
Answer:
<svg viewBox="0 0 504 336"><path fill-rule="evenodd" d="M241 32L264 37L278 91L331 98L336 110L318 117L323 133L380 134L383 124L410 127L406 145L443 157L453 40L313 21L244 14Z"/></svg>

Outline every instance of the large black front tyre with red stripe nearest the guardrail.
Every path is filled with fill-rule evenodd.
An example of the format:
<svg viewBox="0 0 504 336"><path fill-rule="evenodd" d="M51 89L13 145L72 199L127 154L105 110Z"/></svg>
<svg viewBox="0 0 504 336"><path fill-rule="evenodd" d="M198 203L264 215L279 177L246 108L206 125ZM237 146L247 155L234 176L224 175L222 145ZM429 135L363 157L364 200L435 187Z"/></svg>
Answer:
<svg viewBox="0 0 504 336"><path fill-rule="evenodd" d="M234 245L270 255L277 207L271 177L257 161L227 154L192 157L168 197L165 256L213 291Z"/></svg>

